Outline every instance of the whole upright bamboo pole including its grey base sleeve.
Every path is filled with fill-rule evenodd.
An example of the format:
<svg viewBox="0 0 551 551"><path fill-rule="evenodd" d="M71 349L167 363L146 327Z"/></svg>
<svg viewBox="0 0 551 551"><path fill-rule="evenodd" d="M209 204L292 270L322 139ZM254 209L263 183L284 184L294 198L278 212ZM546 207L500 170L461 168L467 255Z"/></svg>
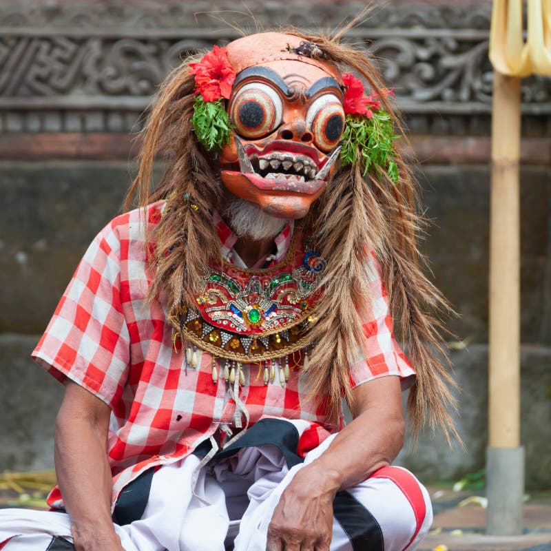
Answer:
<svg viewBox="0 0 551 551"><path fill-rule="evenodd" d="M492 534L522 530L520 448L521 81L494 74L490 199L490 363L488 525ZM516 472L512 472L516 471Z"/></svg>

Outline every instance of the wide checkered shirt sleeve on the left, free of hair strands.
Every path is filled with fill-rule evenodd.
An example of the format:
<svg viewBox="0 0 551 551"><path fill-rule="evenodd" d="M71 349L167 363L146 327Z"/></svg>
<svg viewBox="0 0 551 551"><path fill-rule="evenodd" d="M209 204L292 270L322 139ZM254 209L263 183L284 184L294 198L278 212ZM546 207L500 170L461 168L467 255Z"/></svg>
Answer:
<svg viewBox="0 0 551 551"><path fill-rule="evenodd" d="M80 384L111 408L123 393L129 369L120 252L108 225L87 249L32 352L57 380Z"/></svg>

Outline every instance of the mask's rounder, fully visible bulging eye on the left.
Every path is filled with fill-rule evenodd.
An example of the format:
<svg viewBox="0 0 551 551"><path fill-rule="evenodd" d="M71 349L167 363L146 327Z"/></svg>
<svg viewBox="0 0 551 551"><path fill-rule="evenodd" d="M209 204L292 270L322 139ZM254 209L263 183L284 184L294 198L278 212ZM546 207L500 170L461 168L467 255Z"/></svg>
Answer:
<svg viewBox="0 0 551 551"><path fill-rule="evenodd" d="M282 103L278 92L262 83L243 86L233 97L229 118L240 136L261 138L281 124Z"/></svg>

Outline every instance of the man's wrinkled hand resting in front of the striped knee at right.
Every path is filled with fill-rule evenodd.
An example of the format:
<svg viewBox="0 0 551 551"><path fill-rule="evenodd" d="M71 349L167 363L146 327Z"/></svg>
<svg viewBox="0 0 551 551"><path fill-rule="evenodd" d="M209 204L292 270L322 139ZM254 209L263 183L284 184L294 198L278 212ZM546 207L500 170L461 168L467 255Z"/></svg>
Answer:
<svg viewBox="0 0 551 551"><path fill-rule="evenodd" d="M297 472L273 512L267 551L329 551L339 486L336 473L320 472L315 461Z"/></svg>

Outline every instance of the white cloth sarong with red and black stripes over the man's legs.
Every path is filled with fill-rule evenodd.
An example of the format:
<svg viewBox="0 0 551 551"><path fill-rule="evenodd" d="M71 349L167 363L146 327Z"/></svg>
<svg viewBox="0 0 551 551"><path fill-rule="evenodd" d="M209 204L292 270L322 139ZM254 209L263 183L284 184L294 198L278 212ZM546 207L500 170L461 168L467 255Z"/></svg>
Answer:
<svg viewBox="0 0 551 551"><path fill-rule="evenodd" d="M235 537L235 551L264 551L282 492L333 437L290 470L280 449L271 444L242 448L238 455L214 465L201 466L200 458L189 455L160 467L152 477L142 518L115 525L123 548L224 551L228 535ZM331 551L415 550L432 522L428 492L399 467L384 468L338 492L333 508ZM70 519L63 512L0 510L2 551L70 550L70 542Z"/></svg>

